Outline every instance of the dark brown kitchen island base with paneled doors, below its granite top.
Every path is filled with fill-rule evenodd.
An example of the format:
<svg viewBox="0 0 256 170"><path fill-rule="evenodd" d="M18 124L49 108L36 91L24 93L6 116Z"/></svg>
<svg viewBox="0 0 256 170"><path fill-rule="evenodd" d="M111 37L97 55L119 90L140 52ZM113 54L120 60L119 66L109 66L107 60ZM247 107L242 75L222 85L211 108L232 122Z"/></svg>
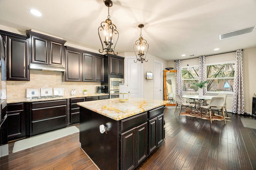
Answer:
<svg viewBox="0 0 256 170"><path fill-rule="evenodd" d="M161 106L115 121L80 106L81 148L101 170L133 170L163 142L163 111ZM99 133L99 125L107 133Z"/></svg>

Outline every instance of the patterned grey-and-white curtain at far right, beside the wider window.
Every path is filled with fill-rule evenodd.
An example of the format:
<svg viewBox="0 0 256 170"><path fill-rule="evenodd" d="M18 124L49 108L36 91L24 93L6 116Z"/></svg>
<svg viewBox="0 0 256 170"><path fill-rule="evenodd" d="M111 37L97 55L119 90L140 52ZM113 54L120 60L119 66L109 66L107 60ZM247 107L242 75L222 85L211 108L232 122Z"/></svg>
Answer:
<svg viewBox="0 0 256 170"><path fill-rule="evenodd" d="M236 50L236 69L233 87L232 113L244 114L244 80L243 80L242 49Z"/></svg>

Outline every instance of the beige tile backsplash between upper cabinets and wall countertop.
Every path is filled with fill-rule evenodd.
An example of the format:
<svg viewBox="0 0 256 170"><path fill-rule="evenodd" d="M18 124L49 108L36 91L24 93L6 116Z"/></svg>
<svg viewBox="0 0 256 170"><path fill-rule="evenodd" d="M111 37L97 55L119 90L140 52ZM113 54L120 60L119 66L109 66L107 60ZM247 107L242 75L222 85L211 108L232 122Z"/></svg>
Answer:
<svg viewBox="0 0 256 170"><path fill-rule="evenodd" d="M100 82L64 82L62 72L30 70L30 81L7 81L7 100L11 98L26 98L27 88L64 88L64 96L70 95L72 89L76 94L87 90L88 94L96 92Z"/></svg>

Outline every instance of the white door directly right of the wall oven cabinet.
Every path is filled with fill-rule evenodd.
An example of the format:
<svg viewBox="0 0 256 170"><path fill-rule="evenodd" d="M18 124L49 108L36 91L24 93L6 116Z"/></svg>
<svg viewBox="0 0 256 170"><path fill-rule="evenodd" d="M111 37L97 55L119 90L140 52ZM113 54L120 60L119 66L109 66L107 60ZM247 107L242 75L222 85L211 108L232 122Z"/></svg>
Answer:
<svg viewBox="0 0 256 170"><path fill-rule="evenodd" d="M126 57L126 70L127 74L125 74L125 80L127 80L130 97L142 98L142 84L143 84L143 75L142 75L142 64L140 62L134 63L136 57Z"/></svg>

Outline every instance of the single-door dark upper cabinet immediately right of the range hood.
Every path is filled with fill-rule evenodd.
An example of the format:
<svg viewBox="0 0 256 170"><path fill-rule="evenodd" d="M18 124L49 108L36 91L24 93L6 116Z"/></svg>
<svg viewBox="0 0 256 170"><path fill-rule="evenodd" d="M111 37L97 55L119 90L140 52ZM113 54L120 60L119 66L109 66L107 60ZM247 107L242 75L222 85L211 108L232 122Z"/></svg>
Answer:
<svg viewBox="0 0 256 170"><path fill-rule="evenodd" d="M73 47L66 47L65 81L82 81L82 51Z"/></svg>

